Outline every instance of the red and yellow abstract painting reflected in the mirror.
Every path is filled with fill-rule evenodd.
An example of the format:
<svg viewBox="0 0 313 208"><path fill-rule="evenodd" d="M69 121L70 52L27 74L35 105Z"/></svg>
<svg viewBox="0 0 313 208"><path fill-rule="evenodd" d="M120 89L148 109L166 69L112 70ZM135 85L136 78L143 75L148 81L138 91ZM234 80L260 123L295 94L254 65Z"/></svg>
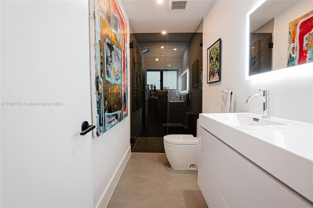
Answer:
<svg viewBox="0 0 313 208"><path fill-rule="evenodd" d="M313 61L313 10L289 23L288 67Z"/></svg>

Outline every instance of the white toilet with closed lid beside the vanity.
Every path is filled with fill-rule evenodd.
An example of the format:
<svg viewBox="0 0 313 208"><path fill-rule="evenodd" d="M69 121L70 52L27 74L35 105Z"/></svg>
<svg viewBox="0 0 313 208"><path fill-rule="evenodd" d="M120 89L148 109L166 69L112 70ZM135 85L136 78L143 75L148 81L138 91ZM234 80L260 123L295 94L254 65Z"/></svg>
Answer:
<svg viewBox="0 0 313 208"><path fill-rule="evenodd" d="M197 137L191 134L170 134L163 137L163 144L167 160L173 169L198 170L199 140Z"/></svg>

